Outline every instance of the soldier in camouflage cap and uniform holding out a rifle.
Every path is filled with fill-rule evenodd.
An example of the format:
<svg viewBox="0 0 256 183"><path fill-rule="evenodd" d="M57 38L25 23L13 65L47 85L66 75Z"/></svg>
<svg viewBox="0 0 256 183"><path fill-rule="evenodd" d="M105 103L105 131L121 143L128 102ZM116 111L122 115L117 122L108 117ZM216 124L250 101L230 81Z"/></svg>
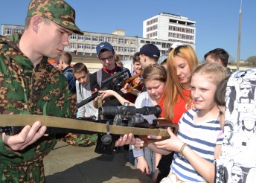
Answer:
<svg viewBox="0 0 256 183"><path fill-rule="evenodd" d="M48 57L59 57L64 46L69 45L68 36L73 32L83 34L75 25L75 12L69 4L62 0L32 0L23 35L0 36L1 114L75 115L77 108L71 103L64 75L48 63ZM46 136L45 130L46 126L36 121L18 135L0 134L1 182L45 181L42 158L57 142L56 136ZM86 135L82 138L78 141L85 145L96 139ZM115 145L131 141L133 144L131 135L124 135Z"/></svg>

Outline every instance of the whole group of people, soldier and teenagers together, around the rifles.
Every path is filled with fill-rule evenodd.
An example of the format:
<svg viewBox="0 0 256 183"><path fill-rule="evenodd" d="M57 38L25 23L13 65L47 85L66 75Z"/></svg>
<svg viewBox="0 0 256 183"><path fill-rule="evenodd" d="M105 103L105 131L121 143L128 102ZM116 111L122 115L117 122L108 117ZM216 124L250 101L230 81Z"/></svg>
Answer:
<svg viewBox="0 0 256 183"><path fill-rule="evenodd" d="M112 45L97 45L102 68L91 74L84 63L71 67L71 54L63 52L72 33L83 34L68 3L32 0L24 33L0 36L1 114L113 120L99 115L99 107L160 106L160 115L141 117L150 124L158 118L179 124L177 134L168 127L169 138L150 144L132 133L112 137L112 146L126 147L130 163L153 182L256 181L256 70L231 74L223 48L209 51L199 64L191 45L178 42L159 64L159 48L146 44L132 57L132 72L124 72L135 80L114 90L106 87L109 77L126 68ZM56 68L48 58L58 59ZM46 130L35 121L15 135L1 132L1 182L45 182L42 160L58 140L86 147L104 135Z"/></svg>

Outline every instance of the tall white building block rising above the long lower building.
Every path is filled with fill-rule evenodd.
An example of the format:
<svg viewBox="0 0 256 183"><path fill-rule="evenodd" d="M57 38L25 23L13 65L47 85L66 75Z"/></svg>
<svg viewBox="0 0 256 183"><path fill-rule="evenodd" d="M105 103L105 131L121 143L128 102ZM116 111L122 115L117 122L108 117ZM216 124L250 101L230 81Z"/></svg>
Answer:
<svg viewBox="0 0 256 183"><path fill-rule="evenodd" d="M196 22L185 16L159 13L143 22L143 37L196 44ZM194 48L194 47L193 47Z"/></svg>

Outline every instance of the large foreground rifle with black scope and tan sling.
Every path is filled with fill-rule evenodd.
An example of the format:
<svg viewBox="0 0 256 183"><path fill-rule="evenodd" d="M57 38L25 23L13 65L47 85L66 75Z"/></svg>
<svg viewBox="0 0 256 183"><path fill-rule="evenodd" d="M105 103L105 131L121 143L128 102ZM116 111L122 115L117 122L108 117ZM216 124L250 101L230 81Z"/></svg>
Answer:
<svg viewBox="0 0 256 183"><path fill-rule="evenodd" d="M43 115L0 115L0 132L5 132L7 135L15 135L19 133L24 126L32 125L34 121L41 121L42 126L47 126L45 133L86 133L93 134L95 132L107 133L99 135L96 153L112 154L115 147L114 141L109 140L109 134L129 134L134 135L160 135L168 136L166 129L158 129L159 126L151 128L147 121L141 115L160 114L161 108L159 106L136 109L135 106L103 106L99 109L100 115L115 115L114 120L95 121L94 119L70 119L57 118ZM150 127L150 128L149 128ZM144 128L144 129L142 129ZM145 129L149 128L149 129ZM154 129L156 128L156 129Z"/></svg>

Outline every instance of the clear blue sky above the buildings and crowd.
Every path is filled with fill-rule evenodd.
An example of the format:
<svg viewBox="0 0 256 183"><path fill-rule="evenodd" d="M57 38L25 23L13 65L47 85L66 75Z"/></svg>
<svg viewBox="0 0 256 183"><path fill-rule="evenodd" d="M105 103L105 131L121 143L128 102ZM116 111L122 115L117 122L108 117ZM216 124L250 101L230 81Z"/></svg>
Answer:
<svg viewBox="0 0 256 183"><path fill-rule="evenodd" d="M25 25L30 0L1 2L0 24ZM143 36L143 21L159 13L172 13L196 21L196 54L200 61L214 48L224 48L237 60L241 0L66 0L76 10L83 31ZM256 1L243 0L240 60L256 56ZM1 30L0 30L1 31Z"/></svg>

